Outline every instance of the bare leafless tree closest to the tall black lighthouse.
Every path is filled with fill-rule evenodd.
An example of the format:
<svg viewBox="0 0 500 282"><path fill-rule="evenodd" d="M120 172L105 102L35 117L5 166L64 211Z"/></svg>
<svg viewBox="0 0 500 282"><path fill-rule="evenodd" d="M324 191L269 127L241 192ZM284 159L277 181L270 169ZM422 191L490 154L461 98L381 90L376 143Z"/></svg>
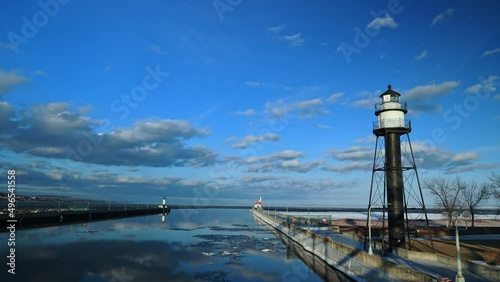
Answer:
<svg viewBox="0 0 500 282"><path fill-rule="evenodd" d="M425 179L424 189L429 189L434 196L434 204L444 209L448 213L448 221L452 224L451 214L460 209L459 195L465 188L465 183L457 177L453 181L448 181L442 176Z"/></svg>

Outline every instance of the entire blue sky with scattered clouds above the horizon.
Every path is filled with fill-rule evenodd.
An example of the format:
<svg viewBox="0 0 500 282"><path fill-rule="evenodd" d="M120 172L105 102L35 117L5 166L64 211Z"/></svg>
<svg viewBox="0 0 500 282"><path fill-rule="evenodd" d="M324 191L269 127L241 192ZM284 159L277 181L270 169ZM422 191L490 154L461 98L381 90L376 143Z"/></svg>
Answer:
<svg viewBox="0 0 500 282"><path fill-rule="evenodd" d="M3 1L0 165L20 194L366 205L390 83L420 178L483 182L500 170L498 8Z"/></svg>

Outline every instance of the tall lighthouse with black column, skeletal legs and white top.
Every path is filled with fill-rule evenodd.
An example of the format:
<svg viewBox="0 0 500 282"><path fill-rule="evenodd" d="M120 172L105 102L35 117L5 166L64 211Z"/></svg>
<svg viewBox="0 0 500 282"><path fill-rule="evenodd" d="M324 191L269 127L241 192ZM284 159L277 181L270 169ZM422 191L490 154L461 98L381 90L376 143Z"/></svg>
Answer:
<svg viewBox="0 0 500 282"><path fill-rule="evenodd" d="M405 120L408 110L406 102L401 101L400 96L401 94L392 90L391 85L388 85L387 90L380 95L380 101L375 104L377 121L373 123L373 134L377 137L377 140L373 158L367 226L371 209L378 208L382 209L382 230L385 230L385 213L387 210L389 252L394 247L405 247L405 233L407 233L408 240L410 240L407 210L409 200L414 200L416 205L422 208L427 227L429 227L409 137L412 130L411 121ZM406 142L401 143L401 136L406 137ZM404 144L403 154L402 144ZM416 179L419 194L412 188L411 181L413 179Z"/></svg>

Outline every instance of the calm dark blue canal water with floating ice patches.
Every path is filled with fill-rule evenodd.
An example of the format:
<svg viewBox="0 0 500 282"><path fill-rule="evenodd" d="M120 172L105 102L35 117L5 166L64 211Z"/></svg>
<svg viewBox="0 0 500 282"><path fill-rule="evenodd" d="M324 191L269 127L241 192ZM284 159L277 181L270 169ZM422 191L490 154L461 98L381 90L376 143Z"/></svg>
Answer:
<svg viewBox="0 0 500 282"><path fill-rule="evenodd" d="M323 281L249 210L159 215L17 230L16 274L0 281Z"/></svg>

